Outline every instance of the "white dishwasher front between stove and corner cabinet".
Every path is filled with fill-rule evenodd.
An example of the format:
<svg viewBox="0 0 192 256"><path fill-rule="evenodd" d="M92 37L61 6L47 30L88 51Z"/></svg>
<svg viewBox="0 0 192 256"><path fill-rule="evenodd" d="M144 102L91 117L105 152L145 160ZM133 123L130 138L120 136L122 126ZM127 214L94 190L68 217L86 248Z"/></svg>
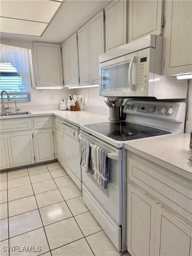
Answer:
<svg viewBox="0 0 192 256"><path fill-rule="evenodd" d="M65 169L75 184L82 190L79 131L79 127L63 122Z"/></svg>

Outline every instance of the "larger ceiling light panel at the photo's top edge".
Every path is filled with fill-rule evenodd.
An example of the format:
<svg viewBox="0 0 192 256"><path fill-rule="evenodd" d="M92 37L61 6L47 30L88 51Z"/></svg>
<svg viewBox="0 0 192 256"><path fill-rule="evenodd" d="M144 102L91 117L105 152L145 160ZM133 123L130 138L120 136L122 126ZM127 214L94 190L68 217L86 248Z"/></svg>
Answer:
<svg viewBox="0 0 192 256"><path fill-rule="evenodd" d="M49 0L0 0L0 16L49 23L60 4Z"/></svg>

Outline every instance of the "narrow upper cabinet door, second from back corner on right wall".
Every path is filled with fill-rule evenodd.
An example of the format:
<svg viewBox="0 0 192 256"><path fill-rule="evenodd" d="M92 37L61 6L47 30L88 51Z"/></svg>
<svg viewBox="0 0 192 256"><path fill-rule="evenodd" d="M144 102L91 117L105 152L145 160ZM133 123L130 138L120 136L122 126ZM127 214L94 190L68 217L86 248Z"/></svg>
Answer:
<svg viewBox="0 0 192 256"><path fill-rule="evenodd" d="M79 85L79 67L78 67L78 51L77 51L77 33L69 39L69 64L70 64L70 80L72 86Z"/></svg>

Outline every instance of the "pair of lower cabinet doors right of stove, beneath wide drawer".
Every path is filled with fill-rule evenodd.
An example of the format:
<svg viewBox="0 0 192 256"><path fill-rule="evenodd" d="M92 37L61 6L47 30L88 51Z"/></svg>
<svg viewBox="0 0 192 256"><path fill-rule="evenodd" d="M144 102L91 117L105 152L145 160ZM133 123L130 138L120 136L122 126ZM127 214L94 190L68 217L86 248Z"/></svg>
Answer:
<svg viewBox="0 0 192 256"><path fill-rule="evenodd" d="M128 184L127 250L131 255L192 255L192 227Z"/></svg>

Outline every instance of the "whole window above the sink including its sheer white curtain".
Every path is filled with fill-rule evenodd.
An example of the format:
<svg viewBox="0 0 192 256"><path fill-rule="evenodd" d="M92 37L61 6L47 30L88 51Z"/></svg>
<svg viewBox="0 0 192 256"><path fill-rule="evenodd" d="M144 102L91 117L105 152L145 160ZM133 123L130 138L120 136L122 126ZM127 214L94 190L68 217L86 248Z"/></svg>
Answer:
<svg viewBox="0 0 192 256"><path fill-rule="evenodd" d="M0 93L6 90L17 101L30 100L31 50L3 44L0 50Z"/></svg>

